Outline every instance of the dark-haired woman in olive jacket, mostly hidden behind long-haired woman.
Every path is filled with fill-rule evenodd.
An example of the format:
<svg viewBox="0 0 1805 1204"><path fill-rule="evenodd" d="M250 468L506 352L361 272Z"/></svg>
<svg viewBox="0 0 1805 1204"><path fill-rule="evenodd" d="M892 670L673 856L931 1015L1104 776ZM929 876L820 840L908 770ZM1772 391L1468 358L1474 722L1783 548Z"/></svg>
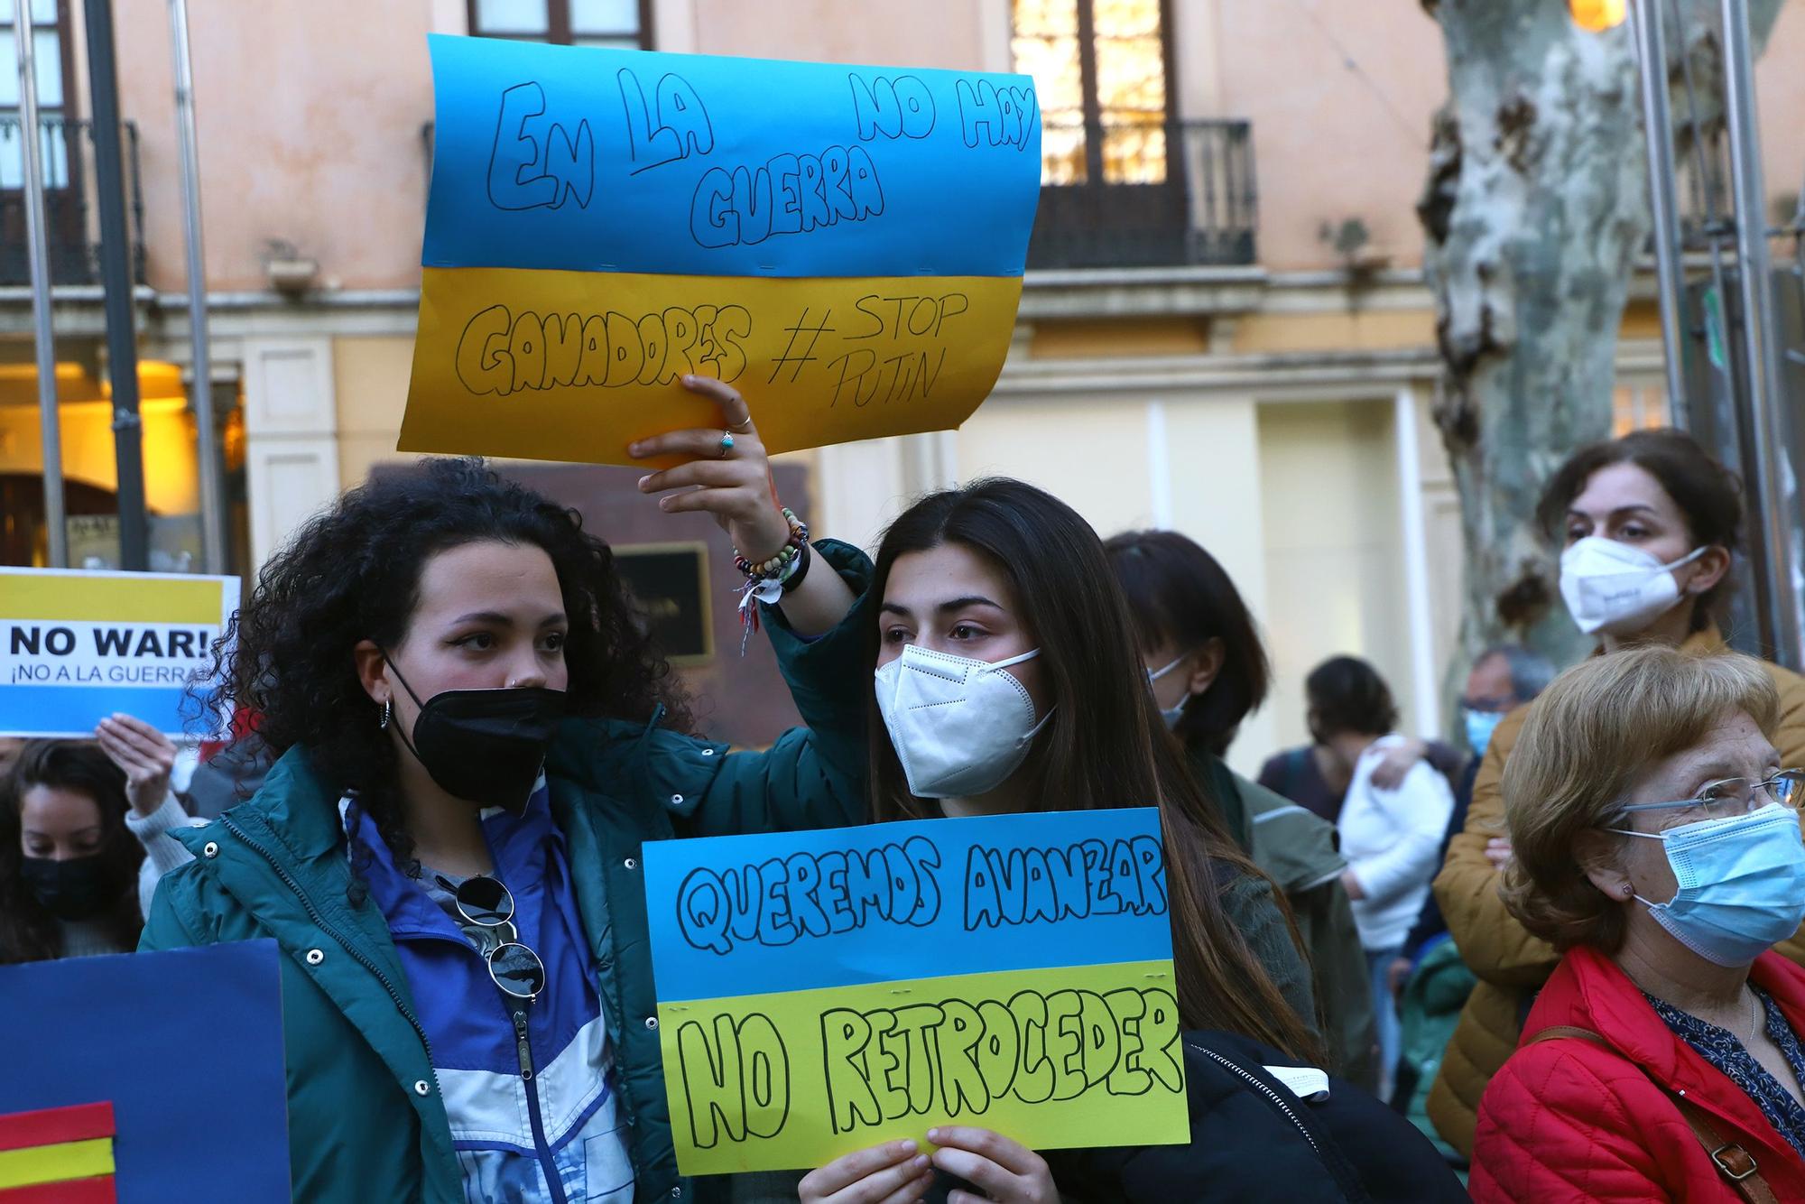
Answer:
<svg viewBox="0 0 1805 1204"><path fill-rule="evenodd" d="M1265 702L1273 666L1227 570L1177 531L1130 531L1105 549L1134 614L1161 718L1235 843L1291 903L1310 953L1323 1034L1343 1076L1379 1085L1366 959L1336 829L1222 758L1242 720Z"/></svg>

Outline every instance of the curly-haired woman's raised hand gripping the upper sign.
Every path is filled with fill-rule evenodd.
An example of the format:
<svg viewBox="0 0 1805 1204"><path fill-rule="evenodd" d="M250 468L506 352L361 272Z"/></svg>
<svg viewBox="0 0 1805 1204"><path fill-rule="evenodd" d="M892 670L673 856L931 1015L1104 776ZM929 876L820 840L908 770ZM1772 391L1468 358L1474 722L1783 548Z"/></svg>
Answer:
<svg viewBox="0 0 1805 1204"><path fill-rule="evenodd" d="M670 514L706 511L733 540L740 556L758 563L783 551L789 543L789 522L778 505L771 486L771 460L753 426L753 412L740 390L709 375L686 375L682 386L702 394L720 406L720 426L668 431L628 444L626 455L635 460L680 457L677 468L666 468L639 478L641 493L668 493L659 498L659 509ZM733 435L733 446L722 448L724 435ZM690 493L670 493L671 489Z"/></svg>

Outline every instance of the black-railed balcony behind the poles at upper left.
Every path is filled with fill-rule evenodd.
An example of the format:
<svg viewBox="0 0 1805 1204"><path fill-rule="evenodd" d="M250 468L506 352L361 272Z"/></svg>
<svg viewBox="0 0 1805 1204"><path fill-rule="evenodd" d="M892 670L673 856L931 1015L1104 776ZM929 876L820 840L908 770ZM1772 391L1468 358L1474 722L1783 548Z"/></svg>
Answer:
<svg viewBox="0 0 1805 1204"><path fill-rule="evenodd" d="M25 193L18 114L0 116L0 285L29 285ZM101 280L99 209L94 191L94 123L38 119L38 162L51 245L51 280L92 285ZM144 283L144 191L137 171L137 126L125 123L126 226L132 280Z"/></svg>

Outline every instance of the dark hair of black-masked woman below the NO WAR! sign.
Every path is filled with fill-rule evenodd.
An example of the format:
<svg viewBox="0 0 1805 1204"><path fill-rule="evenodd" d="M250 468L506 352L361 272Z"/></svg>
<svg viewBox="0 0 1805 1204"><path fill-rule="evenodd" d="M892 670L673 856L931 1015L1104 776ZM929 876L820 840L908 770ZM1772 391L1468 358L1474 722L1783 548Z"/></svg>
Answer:
<svg viewBox="0 0 1805 1204"><path fill-rule="evenodd" d="M125 827L130 803L125 798L125 771L112 764L99 746L81 740L31 740L0 780L0 964L45 962L63 955L63 930L38 895L25 884L23 807L32 787L72 791L94 800L101 812L101 845L106 881L117 883L119 897L99 917L112 942L135 949L144 930L137 903L137 868L144 847Z"/></svg>

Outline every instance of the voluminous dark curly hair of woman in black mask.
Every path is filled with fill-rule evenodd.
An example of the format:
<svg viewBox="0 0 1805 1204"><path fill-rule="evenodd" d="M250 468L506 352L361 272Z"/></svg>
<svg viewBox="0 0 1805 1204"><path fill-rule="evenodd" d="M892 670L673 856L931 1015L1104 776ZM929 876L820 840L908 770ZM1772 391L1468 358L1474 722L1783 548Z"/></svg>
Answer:
<svg viewBox="0 0 1805 1204"><path fill-rule="evenodd" d="M421 601L426 561L486 540L551 556L570 621L570 713L648 720L662 704L671 726L690 726L670 666L637 625L614 552L583 531L576 511L480 460L421 460L417 471L359 486L264 565L233 623L224 699L256 715L256 733L274 753L303 747L332 791L354 791L397 865L415 861L395 749L352 650L365 639L399 644Z"/></svg>

